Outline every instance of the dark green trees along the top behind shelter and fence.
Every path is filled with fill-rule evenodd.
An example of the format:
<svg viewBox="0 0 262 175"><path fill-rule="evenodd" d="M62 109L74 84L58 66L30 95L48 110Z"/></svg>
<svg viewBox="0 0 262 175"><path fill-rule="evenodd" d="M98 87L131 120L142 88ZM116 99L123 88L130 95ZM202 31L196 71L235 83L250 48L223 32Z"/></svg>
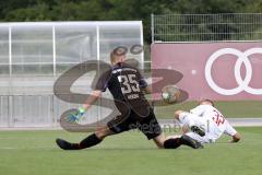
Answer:
<svg viewBox="0 0 262 175"><path fill-rule="evenodd" d="M0 18L5 22L142 20L144 38L151 43L152 13L239 13L261 9L262 0L2 0Z"/></svg>

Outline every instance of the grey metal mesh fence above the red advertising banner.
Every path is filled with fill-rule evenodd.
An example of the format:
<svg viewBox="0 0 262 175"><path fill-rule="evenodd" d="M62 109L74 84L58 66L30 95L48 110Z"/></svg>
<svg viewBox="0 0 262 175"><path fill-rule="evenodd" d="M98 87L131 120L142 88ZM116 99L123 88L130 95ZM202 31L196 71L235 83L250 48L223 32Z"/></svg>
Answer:
<svg viewBox="0 0 262 175"><path fill-rule="evenodd" d="M262 13L152 14L152 43L261 39Z"/></svg>

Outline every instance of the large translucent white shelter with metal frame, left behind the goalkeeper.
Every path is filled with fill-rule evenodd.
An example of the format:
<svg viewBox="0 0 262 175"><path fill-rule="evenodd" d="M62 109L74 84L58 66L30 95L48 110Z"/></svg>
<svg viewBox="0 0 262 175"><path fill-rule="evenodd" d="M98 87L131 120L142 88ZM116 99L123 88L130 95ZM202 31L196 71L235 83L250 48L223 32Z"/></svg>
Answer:
<svg viewBox="0 0 262 175"><path fill-rule="evenodd" d="M110 51L119 46L143 62L143 52L130 51L143 45L142 31L141 21L0 23L0 127L58 126L63 112L79 106L53 95L59 75L83 61L109 62ZM72 92L87 94L93 78L81 77ZM84 122L106 113L94 106Z"/></svg>

